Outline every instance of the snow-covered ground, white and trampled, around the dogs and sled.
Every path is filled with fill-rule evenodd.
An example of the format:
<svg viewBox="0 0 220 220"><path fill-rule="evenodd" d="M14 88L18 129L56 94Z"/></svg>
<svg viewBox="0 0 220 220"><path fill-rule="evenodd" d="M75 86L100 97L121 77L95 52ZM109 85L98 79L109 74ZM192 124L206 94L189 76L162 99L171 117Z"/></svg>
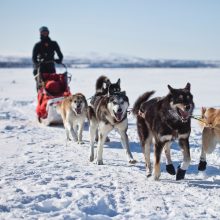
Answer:
<svg viewBox="0 0 220 220"><path fill-rule="evenodd" d="M132 107L145 91L166 95L191 83L196 109L220 107L220 69L69 69L71 91L87 98L101 74L121 78ZM0 69L0 219L211 219L220 218L220 148L199 173L201 128L192 121L191 165L183 181L165 171L160 181L147 179L136 121L129 115L128 136L135 165L128 164L119 135L104 148L104 165L90 163L85 144L65 145L63 127L46 127L35 116L36 91L31 69ZM175 167L182 161L178 144L171 149ZM151 155L153 159L153 153Z"/></svg>

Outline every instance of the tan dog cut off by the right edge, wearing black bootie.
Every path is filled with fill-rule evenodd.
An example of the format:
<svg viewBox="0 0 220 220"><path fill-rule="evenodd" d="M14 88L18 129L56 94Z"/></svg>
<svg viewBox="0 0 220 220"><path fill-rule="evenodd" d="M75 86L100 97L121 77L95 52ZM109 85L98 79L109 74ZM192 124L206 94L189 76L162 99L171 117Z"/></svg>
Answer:
<svg viewBox="0 0 220 220"><path fill-rule="evenodd" d="M202 149L199 171L206 169L206 154L211 154L216 145L220 144L220 109L202 108L202 119L200 124L203 127L202 131Z"/></svg>

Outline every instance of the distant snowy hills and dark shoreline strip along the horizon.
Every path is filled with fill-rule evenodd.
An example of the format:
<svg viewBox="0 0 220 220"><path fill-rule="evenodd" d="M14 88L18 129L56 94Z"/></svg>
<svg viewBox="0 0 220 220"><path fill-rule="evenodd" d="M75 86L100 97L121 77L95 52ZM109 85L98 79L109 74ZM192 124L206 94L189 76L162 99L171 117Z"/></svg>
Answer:
<svg viewBox="0 0 220 220"><path fill-rule="evenodd" d="M83 57L67 56L64 63L72 68L218 68L220 61L144 59L121 55L97 56L91 54ZM0 56L0 68L31 67L30 57Z"/></svg>

